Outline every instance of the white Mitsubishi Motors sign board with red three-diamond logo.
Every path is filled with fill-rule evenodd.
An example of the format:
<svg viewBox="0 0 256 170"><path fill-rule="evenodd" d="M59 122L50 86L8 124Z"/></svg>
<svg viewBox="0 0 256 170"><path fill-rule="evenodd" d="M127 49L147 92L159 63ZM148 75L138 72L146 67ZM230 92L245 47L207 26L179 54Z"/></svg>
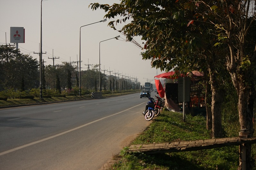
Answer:
<svg viewBox="0 0 256 170"><path fill-rule="evenodd" d="M10 27L10 42L11 43L25 43L25 29L24 27Z"/></svg>

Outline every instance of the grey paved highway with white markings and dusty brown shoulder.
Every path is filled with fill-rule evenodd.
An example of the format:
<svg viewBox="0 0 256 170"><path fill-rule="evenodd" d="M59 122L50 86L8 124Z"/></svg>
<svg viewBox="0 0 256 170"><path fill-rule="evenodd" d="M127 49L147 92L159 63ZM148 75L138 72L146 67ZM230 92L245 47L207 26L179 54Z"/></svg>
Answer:
<svg viewBox="0 0 256 170"><path fill-rule="evenodd" d="M0 109L0 169L99 169L149 125L147 101L135 93Z"/></svg>

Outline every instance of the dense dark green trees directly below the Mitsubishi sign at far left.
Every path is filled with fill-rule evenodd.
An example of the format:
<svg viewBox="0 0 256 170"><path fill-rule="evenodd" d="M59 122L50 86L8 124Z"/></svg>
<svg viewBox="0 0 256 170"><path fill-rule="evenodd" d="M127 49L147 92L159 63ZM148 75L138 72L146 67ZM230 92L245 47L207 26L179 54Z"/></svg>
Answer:
<svg viewBox="0 0 256 170"><path fill-rule="evenodd" d="M0 46L0 90L20 89L22 76L25 89L38 87L38 63L30 55L20 54L14 47Z"/></svg>

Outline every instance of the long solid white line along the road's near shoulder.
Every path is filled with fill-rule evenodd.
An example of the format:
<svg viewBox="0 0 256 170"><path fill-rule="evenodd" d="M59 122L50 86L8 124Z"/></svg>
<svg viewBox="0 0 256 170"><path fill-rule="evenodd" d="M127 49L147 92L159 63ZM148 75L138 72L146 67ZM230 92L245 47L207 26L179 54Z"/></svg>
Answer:
<svg viewBox="0 0 256 170"><path fill-rule="evenodd" d="M28 146L31 146L31 145L34 145L34 144L38 144L38 143L40 143L40 142L44 142L44 141L49 140L49 139L52 139L52 138L54 138L54 137L58 137L58 136L64 135L64 134L66 134L66 133L68 133L68 132L72 132L72 131L74 131L74 130L83 128L83 127L85 127L85 126L88 126L88 125L90 125L90 124L92 124L92 123L95 123L95 122L99 122L99 121L101 121L101 120L103 120L103 119L106 119L106 118L108 118L108 117L115 116L115 115L118 115L118 114L120 114L120 113L126 112L127 110L130 110L130 109L132 109L132 108L134 108L134 107L137 107L137 106L140 106L140 105L142 105L142 104L145 104L145 102L140 103L140 104L138 104L138 105L136 105L136 106L133 106L133 107L131 107L131 108L128 108L128 109L126 109L126 110L123 110L123 111L121 111L121 112L115 113L115 114L113 114L113 115L109 115L109 116L106 116L106 117L102 117L102 118L100 118L100 119L97 119L97 120L95 120L95 121L86 123L86 124L81 125L81 126L78 126L78 127L76 127L76 128L73 128L73 129L67 130L67 131L65 131L65 132L62 132L62 133L53 135L53 136L51 136L51 137L46 137L46 138L44 138L44 139L41 139L41 140L38 140L38 141L35 141L35 142L31 142L31 143L29 143L29 144L24 144L24 145L22 145L22 146L19 146L19 147L10 149L10 150L8 150L8 151L1 152L1 153L0 153L0 156L5 155L5 154L7 154L7 153L11 153L11 152L17 151L17 150L20 150L20 149L23 149L23 148L25 148L25 147L28 147Z"/></svg>

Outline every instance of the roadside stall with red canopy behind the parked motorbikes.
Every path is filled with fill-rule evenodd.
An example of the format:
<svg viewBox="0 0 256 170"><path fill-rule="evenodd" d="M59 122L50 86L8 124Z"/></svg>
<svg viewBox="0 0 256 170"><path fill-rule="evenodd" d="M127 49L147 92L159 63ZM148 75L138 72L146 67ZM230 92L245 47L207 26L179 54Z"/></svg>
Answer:
<svg viewBox="0 0 256 170"><path fill-rule="evenodd" d="M190 113L191 115L204 115L206 114L204 102L205 89L199 83L202 81L204 75L199 71L192 71L191 73L189 72L186 75L190 77L189 102L186 102L186 113ZM184 77L184 75L177 75L179 74L170 71L159 74L154 78L159 96L165 98L165 107L170 111L180 112L182 102L178 100L178 78ZM165 78L171 79L171 83L164 83Z"/></svg>

